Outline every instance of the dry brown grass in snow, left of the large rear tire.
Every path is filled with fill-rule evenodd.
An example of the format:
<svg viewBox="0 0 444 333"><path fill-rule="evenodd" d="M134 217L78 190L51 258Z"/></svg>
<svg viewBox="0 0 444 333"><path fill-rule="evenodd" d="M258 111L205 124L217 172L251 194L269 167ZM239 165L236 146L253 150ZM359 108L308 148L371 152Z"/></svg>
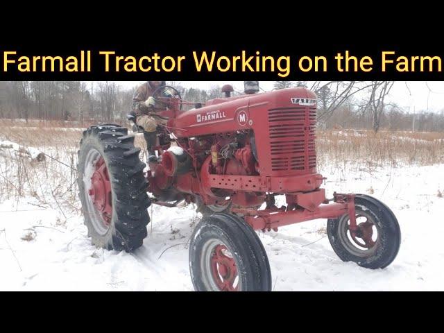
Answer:
<svg viewBox="0 0 444 333"><path fill-rule="evenodd" d="M47 157L39 162L19 151L0 148L0 202L6 199L18 202L21 197L33 196L41 208L54 207L62 216L67 209L78 209L76 163L82 130L48 128L42 123L39 126L21 125L1 121L0 140L15 142L21 149L37 148L53 159Z"/></svg>

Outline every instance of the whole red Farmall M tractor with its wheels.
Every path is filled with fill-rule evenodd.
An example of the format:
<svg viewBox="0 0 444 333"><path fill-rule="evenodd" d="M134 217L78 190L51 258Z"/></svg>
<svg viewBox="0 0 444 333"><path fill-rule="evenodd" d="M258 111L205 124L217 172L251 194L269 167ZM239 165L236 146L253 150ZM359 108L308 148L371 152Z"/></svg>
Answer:
<svg viewBox="0 0 444 333"><path fill-rule="evenodd" d="M314 219L327 219L328 239L344 262L372 269L393 262L401 242L393 212L370 196L326 198L321 188L313 92L230 97L227 90L226 98L185 112L187 102L176 93L157 97L169 121L157 130L159 158L148 161L149 171L127 128L104 123L83 133L78 186L93 244L133 251L147 236L151 204L175 207L185 200L203 214L189 244L197 291L271 291L255 230Z"/></svg>

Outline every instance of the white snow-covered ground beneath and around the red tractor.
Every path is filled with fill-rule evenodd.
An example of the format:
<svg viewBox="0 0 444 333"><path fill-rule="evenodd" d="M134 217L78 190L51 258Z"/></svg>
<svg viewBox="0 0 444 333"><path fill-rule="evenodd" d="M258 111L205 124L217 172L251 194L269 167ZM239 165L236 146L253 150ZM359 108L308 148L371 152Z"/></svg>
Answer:
<svg viewBox="0 0 444 333"><path fill-rule="evenodd" d="M3 171L6 167L2 167ZM63 166L62 166L63 168ZM377 168L327 166L333 191L372 194L400 221L402 245L388 268L341 262L316 220L260 233L275 291L444 290L444 164ZM0 179L0 182L3 179ZM194 207L150 207L152 223L135 253L91 245L83 217L55 199L0 203L0 290L191 291L187 242L198 223Z"/></svg>

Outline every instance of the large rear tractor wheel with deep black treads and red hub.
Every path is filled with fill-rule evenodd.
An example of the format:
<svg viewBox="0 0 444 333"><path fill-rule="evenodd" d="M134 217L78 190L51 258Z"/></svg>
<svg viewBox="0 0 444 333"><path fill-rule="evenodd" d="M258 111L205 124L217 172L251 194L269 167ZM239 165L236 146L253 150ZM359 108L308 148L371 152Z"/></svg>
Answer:
<svg viewBox="0 0 444 333"><path fill-rule="evenodd" d="M132 252L142 246L150 218L146 164L126 128L92 126L78 151L78 188L92 244Z"/></svg>

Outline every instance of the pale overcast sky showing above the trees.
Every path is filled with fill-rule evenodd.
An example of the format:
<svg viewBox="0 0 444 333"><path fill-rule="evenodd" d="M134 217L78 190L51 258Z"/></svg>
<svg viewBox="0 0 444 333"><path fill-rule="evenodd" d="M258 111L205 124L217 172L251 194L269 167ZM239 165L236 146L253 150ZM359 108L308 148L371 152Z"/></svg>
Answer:
<svg viewBox="0 0 444 333"><path fill-rule="evenodd" d="M135 87L142 81L117 82L122 87ZM234 89L242 92L243 81L178 81L183 87L194 87L199 89L210 89L213 85L233 85ZM260 81L262 89L270 91L273 89L273 81ZM429 87L427 87L427 85ZM407 88L408 87L408 88ZM400 105L407 112L414 110L440 111L444 109L444 82L443 81L398 81L391 90L391 101Z"/></svg>

